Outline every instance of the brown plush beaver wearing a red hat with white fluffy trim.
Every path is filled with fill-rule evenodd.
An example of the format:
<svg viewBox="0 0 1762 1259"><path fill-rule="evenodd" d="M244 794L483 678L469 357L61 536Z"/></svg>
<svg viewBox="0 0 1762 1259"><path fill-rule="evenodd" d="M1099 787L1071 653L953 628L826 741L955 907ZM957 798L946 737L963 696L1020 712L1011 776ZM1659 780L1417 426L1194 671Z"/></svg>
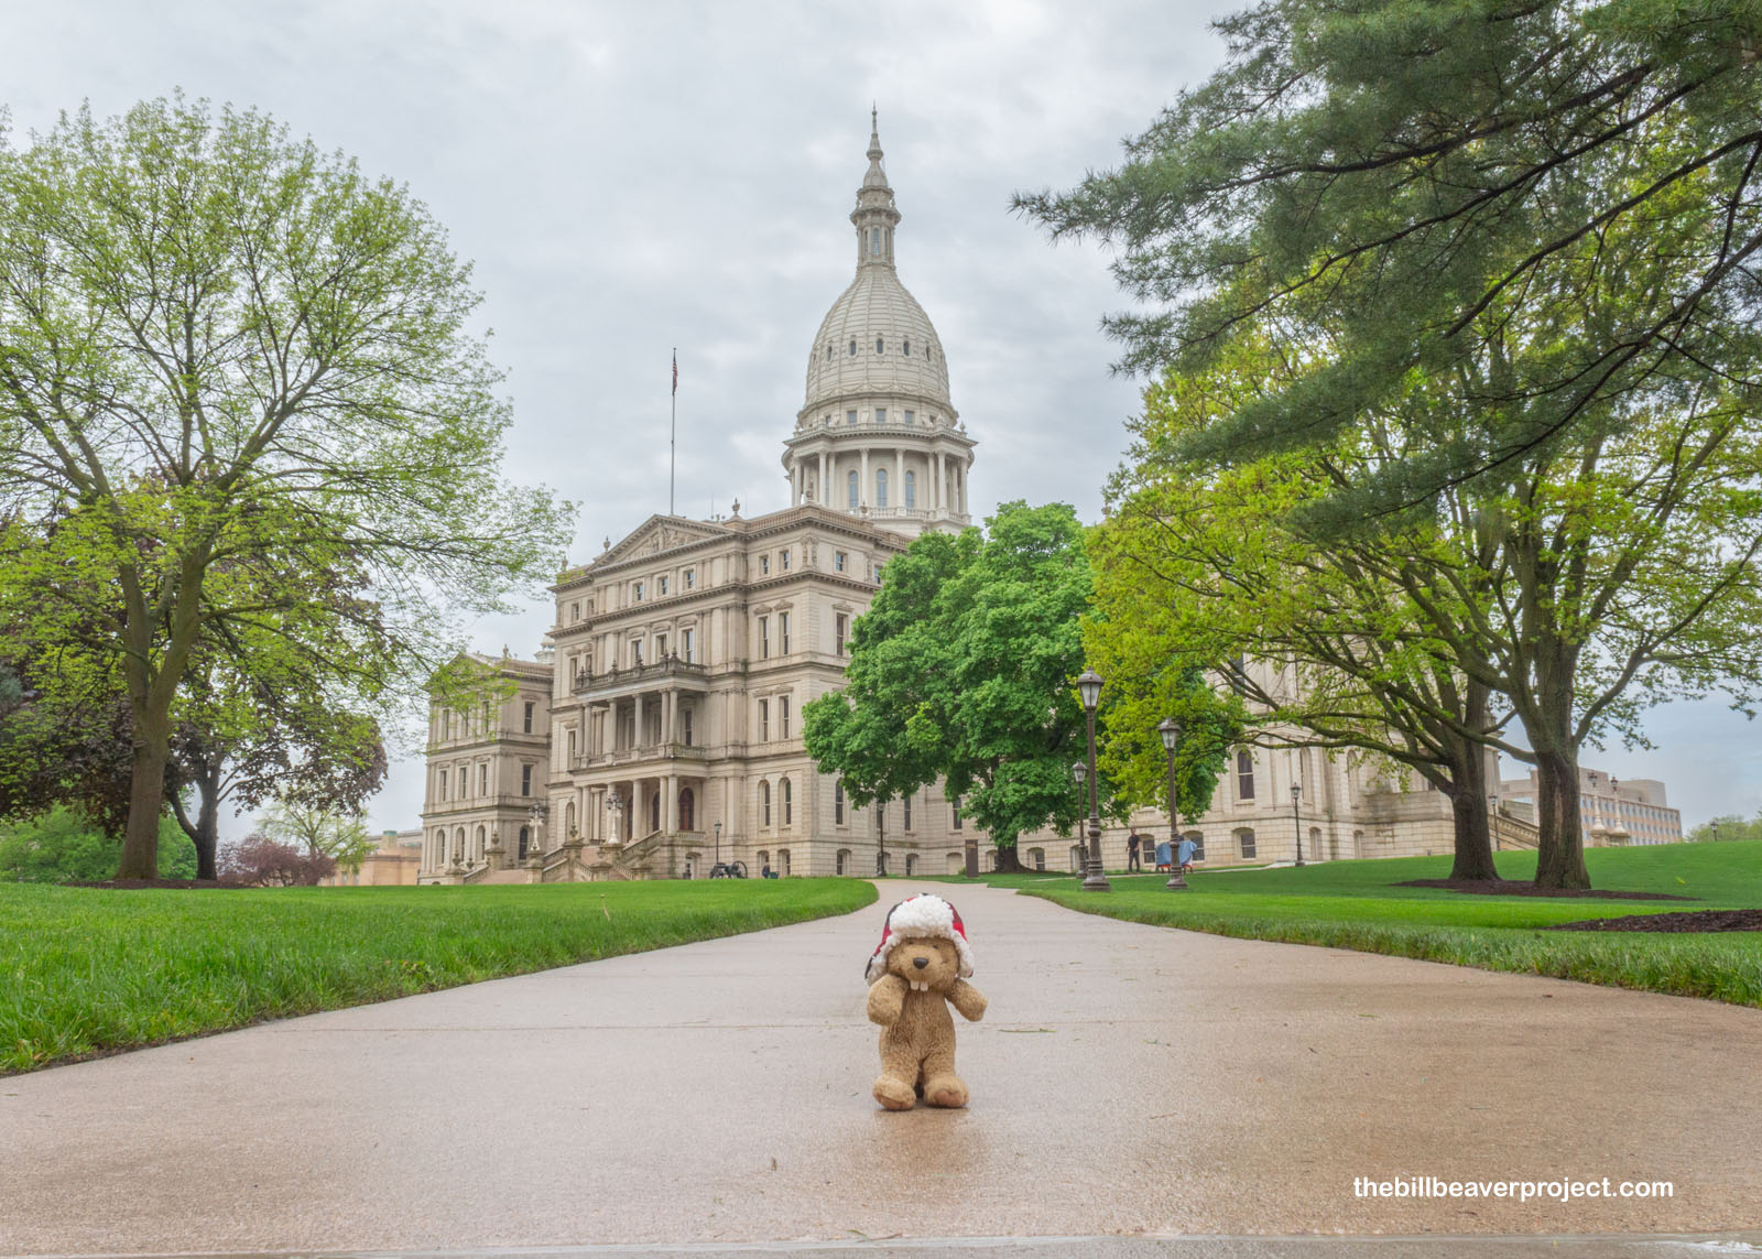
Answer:
<svg viewBox="0 0 1762 1259"><path fill-rule="evenodd" d="M913 896L886 915L881 943L869 957L869 1021L881 1024L881 1074L874 1097L890 1111L966 1106L955 1074L953 1005L969 1023L985 1016L985 996L967 982L973 949L955 906L941 896Z"/></svg>

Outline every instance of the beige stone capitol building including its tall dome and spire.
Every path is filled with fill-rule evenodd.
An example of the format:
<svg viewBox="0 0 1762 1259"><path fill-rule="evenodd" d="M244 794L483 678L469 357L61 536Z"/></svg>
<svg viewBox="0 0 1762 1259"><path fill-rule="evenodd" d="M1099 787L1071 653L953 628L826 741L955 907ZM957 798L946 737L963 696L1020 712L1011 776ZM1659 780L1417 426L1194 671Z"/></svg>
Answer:
<svg viewBox="0 0 1762 1259"><path fill-rule="evenodd" d="M960 873L992 845L927 788L855 808L802 741L839 689L851 626L888 559L973 524L974 441L941 337L899 279L900 212L870 127L851 226L856 275L807 349L782 441L789 506L745 518L654 515L552 587L536 659L472 656L493 698L430 711L421 883L751 875ZM1494 778L1496 781L1496 778ZM1299 792L1292 792L1299 786ZM1186 831L1209 866L1452 850L1450 802L1320 749L1232 753ZM1658 786L1662 804L1662 785ZM1168 818L1135 823L1168 836ZM1122 827L1105 836L1126 862ZM1499 809L1503 845L1535 827ZM1018 839L1029 869L1077 869L1078 839Z"/></svg>

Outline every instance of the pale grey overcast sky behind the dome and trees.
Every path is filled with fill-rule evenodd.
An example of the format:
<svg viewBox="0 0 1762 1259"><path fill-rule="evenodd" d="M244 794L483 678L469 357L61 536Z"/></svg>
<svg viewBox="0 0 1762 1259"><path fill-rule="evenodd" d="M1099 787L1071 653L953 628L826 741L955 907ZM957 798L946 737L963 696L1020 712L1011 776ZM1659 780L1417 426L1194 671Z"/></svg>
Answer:
<svg viewBox="0 0 1762 1259"><path fill-rule="evenodd" d="M1098 332L1121 298L1101 252L1054 249L1010 194L1112 166L1221 60L1228 2L0 0L0 104L23 132L183 88L409 183L476 261L515 402L506 471L580 506L573 562L668 508L675 346L678 511L788 504L782 441L853 275L876 104L899 273L980 443L974 515L1027 499L1094 520L1136 400ZM470 645L530 658L550 622L534 591ZM1762 808L1743 718L1677 704L1649 728L1656 751L1586 764L1665 779L1686 825ZM418 825L421 788L398 760L370 825Z"/></svg>

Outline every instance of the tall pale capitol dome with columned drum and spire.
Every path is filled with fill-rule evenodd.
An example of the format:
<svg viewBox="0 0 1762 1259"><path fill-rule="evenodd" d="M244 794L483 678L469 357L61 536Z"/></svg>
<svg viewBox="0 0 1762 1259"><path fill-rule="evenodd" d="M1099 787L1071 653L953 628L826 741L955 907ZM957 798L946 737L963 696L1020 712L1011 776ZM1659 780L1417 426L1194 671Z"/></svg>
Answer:
<svg viewBox="0 0 1762 1259"><path fill-rule="evenodd" d="M819 321L807 353L807 399L784 443L789 503L913 538L966 529L974 443L948 400L943 342L893 270L899 208L874 115L851 224L856 279Z"/></svg>

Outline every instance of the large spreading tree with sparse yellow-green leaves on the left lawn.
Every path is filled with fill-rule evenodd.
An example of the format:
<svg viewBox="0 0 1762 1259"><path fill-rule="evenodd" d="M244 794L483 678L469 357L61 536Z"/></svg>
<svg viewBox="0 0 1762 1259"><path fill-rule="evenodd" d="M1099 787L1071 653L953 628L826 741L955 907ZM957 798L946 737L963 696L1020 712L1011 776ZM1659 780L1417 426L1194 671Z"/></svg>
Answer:
<svg viewBox="0 0 1762 1259"><path fill-rule="evenodd" d="M255 111L176 97L0 148L0 612L39 645L102 628L120 876L155 873L204 642L414 695L453 615L555 571L566 504L497 478L478 303L405 189Z"/></svg>

